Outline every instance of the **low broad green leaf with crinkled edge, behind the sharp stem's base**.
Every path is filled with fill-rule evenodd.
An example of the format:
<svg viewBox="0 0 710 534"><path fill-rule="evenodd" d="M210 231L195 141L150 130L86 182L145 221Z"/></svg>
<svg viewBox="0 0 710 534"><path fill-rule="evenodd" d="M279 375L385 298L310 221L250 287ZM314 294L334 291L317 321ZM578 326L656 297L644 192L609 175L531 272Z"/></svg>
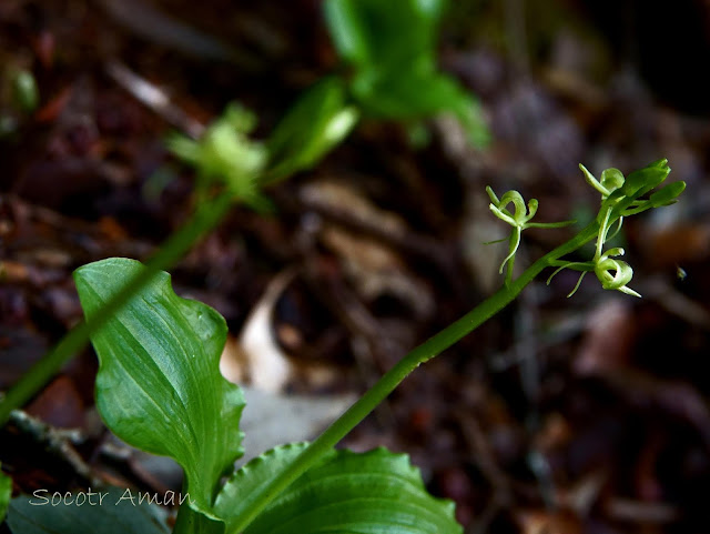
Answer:
<svg viewBox="0 0 710 534"><path fill-rule="evenodd" d="M251 495L293 462L305 444L272 450L236 472L215 511L233 520L253 505ZM384 449L358 454L333 451L307 471L244 534L460 534L454 503L434 498L404 454Z"/></svg>

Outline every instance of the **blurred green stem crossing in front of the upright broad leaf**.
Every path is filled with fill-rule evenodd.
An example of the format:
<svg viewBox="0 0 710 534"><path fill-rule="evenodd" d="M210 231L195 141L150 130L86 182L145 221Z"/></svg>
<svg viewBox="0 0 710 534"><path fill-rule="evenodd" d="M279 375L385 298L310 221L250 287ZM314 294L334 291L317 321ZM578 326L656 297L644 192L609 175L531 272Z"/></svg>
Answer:
<svg viewBox="0 0 710 534"><path fill-rule="evenodd" d="M231 194L223 193L197 208L192 219L171 235L151 258L146 264L148 269L128 282L123 291L97 314L95 320L91 323L79 323L42 360L24 373L0 401L0 427L8 422L12 410L19 409L32 399L67 361L87 346L91 334L100 329L155 273L174 264L202 235L214 229L229 212L232 201Z"/></svg>

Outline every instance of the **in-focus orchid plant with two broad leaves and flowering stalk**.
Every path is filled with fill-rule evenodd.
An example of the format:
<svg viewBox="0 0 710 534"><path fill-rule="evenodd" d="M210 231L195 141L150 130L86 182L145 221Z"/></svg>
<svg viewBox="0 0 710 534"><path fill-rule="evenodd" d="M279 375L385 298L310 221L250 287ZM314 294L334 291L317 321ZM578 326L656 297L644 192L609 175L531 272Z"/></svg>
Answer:
<svg viewBox="0 0 710 534"><path fill-rule="evenodd" d="M500 290L403 357L313 443L268 451L236 472L233 462L241 454L239 417L244 402L239 387L219 373L226 335L224 320L211 308L175 295L169 274L152 278L93 332L101 363L97 404L119 437L169 455L183 466L184 493L191 500L180 507L174 532L462 532L452 503L429 496L405 456L385 450L355 454L334 446L412 371L503 310L546 268L576 269L582 274L595 271L604 289L637 294L627 286L631 268L611 260L619 250L604 252L609 229L620 225L625 216L676 202L684 183L652 192L670 172L666 160L626 178L607 170L601 182L582 171L601 192L598 215L517 278L513 258L520 233L541 225L530 222L537 201L531 200L526 210L519 193L508 192L498 200L488 189L491 211L514 228L510 253L504 261L508 272ZM508 203L514 204L514 212L507 210ZM564 260L595 239L591 261ZM145 270L126 259L80 268L74 278L89 323L123 291L125 280L134 280ZM222 483L224 475L229 477ZM13 500L10 505L9 523L16 534L39 532L26 521L24 501ZM61 513L63 508L54 510ZM47 521L54 521L50 516L48 513ZM143 532L163 531L155 526Z"/></svg>

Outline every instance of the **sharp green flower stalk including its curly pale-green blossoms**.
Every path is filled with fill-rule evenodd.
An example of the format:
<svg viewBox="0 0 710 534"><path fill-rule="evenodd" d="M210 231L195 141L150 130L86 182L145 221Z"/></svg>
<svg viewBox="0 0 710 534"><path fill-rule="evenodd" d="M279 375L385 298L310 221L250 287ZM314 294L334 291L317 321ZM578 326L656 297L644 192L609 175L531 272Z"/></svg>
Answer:
<svg viewBox="0 0 710 534"><path fill-rule="evenodd" d="M628 180L621 180L623 175L620 171L605 171L605 173L602 173L601 182L597 181L587 171L585 174L587 181L590 182L590 184L602 195L599 215L572 239L532 263L515 280L513 279L513 266L515 253L520 245L520 234L523 230L531 226L560 228L569 224L571 221L559 223L531 223L530 220L535 216L538 209L537 200L530 200L526 210L525 201L517 191L508 191L498 199L493 189L486 188L491 201L490 210L496 216L513 226L513 231L508 238L509 253L500 266L500 272L503 272L504 268L507 265L504 285L458 321L428 339L399 360L399 362L386 372L373 387L371 387L343 415L341 415L313 443L311 443L311 445L293 463L281 471L281 473L268 484L258 488L258 495L255 495L254 505L236 518L232 532L243 532L281 492L317 463L324 454L331 451L348 432L351 432L382 401L384 401L385 397L409 375L409 373L423 363L432 360L450 347L454 343L501 311L545 269L557 266L558 269L555 273L565 268L581 270L582 276L589 271L595 271L604 289L617 290L622 293L640 296L627 286L627 283L631 280L631 275L633 273L630 265L626 262L613 259L613 256L622 255L623 250L616 248L602 252L602 248L604 243L609 239L609 228L619 222L622 216L628 216L631 211L638 209L642 209L641 211L643 211L645 209L655 208L655 204L667 205L668 203L676 201L678 194L680 194L684 189L683 182L676 182L674 184L670 184L667 188L661 189L659 191L661 195L656 197L656 200L653 194L649 200L639 200L641 194L646 194L652 190L668 175L670 169L668 169L666 163L666 160L660 160L659 162L651 163L651 165L642 169L641 171L637 171L637 173L641 173L640 179L637 173L629 175L629 179L633 178L633 183L632 187L627 187L626 191L622 191L622 188L628 184ZM646 172L648 169L650 169L650 171ZM584 169L584 171L586 171L586 169ZM591 180L589 177L591 177ZM655 185L649 189L649 184L651 183L655 183ZM507 208L510 203L514 205L513 212ZM592 259L592 261L562 261L564 256L578 251L595 238L597 239L597 246L595 259ZM613 272L613 274L611 274L611 272ZM552 273L552 276L555 273ZM580 282L581 276L577 286L579 286Z"/></svg>

